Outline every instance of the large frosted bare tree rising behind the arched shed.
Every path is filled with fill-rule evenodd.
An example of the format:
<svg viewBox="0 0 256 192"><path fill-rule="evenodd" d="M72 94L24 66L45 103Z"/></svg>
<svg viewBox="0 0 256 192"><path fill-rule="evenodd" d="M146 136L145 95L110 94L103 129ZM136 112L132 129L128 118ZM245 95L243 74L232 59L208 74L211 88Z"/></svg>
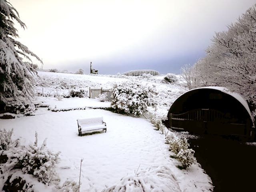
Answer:
<svg viewBox="0 0 256 192"><path fill-rule="evenodd" d="M227 31L216 33L206 54L195 64L197 76L205 85L226 86L256 102L255 6Z"/></svg>

